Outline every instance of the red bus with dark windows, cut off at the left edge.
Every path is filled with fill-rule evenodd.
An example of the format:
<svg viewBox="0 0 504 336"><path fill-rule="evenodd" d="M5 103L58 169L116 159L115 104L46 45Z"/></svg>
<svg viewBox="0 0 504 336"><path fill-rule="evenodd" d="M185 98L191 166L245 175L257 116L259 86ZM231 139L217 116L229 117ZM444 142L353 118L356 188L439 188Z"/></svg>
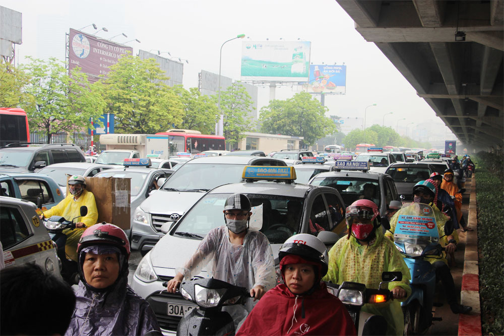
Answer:
<svg viewBox="0 0 504 336"><path fill-rule="evenodd" d="M0 107L0 147L12 143L29 143L28 117L21 108Z"/></svg>

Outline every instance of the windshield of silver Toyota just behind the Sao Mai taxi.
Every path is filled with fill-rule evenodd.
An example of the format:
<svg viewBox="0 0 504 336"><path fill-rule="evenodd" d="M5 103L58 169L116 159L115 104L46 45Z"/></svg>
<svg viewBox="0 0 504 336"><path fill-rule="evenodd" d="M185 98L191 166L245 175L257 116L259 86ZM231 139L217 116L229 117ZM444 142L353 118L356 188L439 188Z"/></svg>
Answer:
<svg viewBox="0 0 504 336"><path fill-rule="evenodd" d="M173 174L166 183L163 184L161 189L176 189L177 191L208 191L222 184L240 182L244 167L245 165L221 163L185 164L177 170L176 174Z"/></svg>

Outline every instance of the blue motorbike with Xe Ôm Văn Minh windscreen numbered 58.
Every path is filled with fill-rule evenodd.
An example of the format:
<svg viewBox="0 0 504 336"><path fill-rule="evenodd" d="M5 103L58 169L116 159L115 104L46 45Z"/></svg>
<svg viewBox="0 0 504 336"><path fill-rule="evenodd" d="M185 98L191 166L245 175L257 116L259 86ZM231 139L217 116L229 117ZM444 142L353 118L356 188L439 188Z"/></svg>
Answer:
<svg viewBox="0 0 504 336"><path fill-rule="evenodd" d="M443 257L444 247L439 244L439 239L444 236L439 237L434 211L426 204L406 204L398 215L394 244L403 255L411 275L411 295L401 303L404 335L423 334L432 321L442 320L432 315L432 307L442 304L434 302L436 272L424 258ZM445 224L445 235L452 231L449 221Z"/></svg>

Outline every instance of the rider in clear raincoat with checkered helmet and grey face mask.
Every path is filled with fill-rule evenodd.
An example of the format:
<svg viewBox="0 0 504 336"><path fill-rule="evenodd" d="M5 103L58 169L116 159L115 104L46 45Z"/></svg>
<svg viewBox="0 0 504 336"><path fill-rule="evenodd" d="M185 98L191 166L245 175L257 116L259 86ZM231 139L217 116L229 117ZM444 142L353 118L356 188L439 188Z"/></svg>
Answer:
<svg viewBox="0 0 504 336"><path fill-rule="evenodd" d="M211 264L209 277L250 289L254 301L275 285L275 263L268 238L259 231L248 230L250 200L241 193L235 193L224 204L226 225L216 227L203 238L196 252L177 268L175 277L168 282L167 290L175 293L185 279L198 275L203 267ZM244 320L255 303L247 300L244 308L238 305L224 307L235 321Z"/></svg>

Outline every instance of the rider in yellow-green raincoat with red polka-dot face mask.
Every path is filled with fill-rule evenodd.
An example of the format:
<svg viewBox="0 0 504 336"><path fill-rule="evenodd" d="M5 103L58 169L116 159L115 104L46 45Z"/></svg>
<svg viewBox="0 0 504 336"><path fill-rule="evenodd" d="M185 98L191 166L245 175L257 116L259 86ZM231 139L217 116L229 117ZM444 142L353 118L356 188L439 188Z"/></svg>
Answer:
<svg viewBox="0 0 504 336"><path fill-rule="evenodd" d="M376 204L359 199L346 210L348 236L334 244L329 251L329 271L325 281L343 281L378 288L383 272L401 272L401 281L389 283L394 299L405 299L411 294L408 267L394 243L385 239L380 228L380 212ZM402 335L404 316L397 300L381 304L365 304L362 311L382 315L387 320L388 335Z"/></svg>

